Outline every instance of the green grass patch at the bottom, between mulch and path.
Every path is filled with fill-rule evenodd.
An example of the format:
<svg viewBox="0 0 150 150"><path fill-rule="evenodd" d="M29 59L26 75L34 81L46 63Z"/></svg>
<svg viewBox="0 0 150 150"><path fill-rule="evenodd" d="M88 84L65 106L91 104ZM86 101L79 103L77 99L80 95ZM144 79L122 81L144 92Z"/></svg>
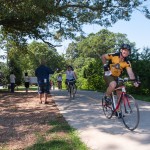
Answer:
<svg viewBox="0 0 150 150"><path fill-rule="evenodd" d="M89 150L66 121L51 121L49 125L51 129L45 135L36 134L37 142L25 150Z"/></svg>

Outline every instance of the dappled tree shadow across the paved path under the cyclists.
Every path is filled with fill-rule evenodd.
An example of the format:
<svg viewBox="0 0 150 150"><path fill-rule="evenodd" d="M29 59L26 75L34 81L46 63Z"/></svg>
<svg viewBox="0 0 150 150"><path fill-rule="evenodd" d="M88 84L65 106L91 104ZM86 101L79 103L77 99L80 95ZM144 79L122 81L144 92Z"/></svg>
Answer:
<svg viewBox="0 0 150 150"><path fill-rule="evenodd" d="M129 131L125 128L122 119L117 119L115 116L112 119L107 119L104 116L101 98L102 94L92 91L78 91L77 99L70 103L66 99L66 92L57 94L54 100L58 105L61 113L66 118L68 123L78 129L85 131L91 128L99 132L109 133L110 135L128 136L132 141L148 145L150 139L150 103L138 101L140 109L140 123L135 131ZM63 97L63 95L65 95ZM139 136L140 135L140 136Z"/></svg>

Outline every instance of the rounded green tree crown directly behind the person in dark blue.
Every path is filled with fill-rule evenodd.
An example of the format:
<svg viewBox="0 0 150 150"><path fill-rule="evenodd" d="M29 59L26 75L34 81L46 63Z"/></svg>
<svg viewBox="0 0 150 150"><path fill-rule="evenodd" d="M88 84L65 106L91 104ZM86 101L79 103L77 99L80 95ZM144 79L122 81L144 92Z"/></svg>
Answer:
<svg viewBox="0 0 150 150"><path fill-rule="evenodd" d="M28 51L25 56L22 57L22 68L32 75L34 75L35 68L39 66L42 59L46 61L46 65L53 71L65 66L64 58L58 54L56 49L49 47L45 43L33 41L28 45Z"/></svg>

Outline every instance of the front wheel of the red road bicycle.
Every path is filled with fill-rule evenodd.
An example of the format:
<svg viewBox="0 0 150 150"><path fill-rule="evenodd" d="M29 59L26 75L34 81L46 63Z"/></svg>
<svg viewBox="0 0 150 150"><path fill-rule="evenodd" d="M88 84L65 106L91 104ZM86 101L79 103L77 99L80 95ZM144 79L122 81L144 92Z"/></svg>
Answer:
<svg viewBox="0 0 150 150"><path fill-rule="evenodd" d="M125 127L131 131L135 130L139 124L140 113L138 104L131 95L124 95L121 103L121 112Z"/></svg>

